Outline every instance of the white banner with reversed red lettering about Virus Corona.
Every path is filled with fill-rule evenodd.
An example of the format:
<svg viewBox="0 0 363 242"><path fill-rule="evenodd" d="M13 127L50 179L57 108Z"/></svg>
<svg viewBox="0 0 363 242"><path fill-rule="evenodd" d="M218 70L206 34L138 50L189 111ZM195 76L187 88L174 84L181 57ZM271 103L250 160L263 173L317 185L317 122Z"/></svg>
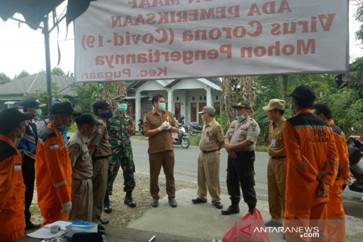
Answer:
<svg viewBox="0 0 363 242"><path fill-rule="evenodd" d="M75 21L76 82L343 73L348 0L98 0Z"/></svg>

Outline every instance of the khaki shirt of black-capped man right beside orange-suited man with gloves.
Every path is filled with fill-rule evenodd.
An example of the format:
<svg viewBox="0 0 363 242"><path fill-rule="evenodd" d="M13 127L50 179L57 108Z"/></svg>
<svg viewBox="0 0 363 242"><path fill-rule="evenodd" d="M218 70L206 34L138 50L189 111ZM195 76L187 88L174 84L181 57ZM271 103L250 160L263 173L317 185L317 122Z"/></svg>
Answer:
<svg viewBox="0 0 363 242"><path fill-rule="evenodd" d="M74 180L89 179L93 175L88 142L88 139L77 130L67 143L70 163L72 164L72 179Z"/></svg>

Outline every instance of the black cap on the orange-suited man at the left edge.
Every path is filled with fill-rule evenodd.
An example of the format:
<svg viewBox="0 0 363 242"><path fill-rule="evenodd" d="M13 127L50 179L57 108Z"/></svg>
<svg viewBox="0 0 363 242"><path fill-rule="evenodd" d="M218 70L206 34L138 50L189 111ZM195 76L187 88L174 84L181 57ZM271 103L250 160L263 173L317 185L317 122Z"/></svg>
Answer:
<svg viewBox="0 0 363 242"><path fill-rule="evenodd" d="M25 120L34 118L30 112L22 113L16 108L7 108L0 112L0 132L5 134Z"/></svg>

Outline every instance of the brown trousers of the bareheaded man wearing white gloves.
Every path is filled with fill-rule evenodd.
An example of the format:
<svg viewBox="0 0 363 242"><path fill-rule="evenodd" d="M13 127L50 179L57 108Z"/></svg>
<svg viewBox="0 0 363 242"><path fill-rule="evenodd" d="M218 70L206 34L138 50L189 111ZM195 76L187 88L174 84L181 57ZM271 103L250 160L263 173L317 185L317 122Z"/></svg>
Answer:
<svg viewBox="0 0 363 242"><path fill-rule="evenodd" d="M161 167L163 167L166 177L166 193L169 198L175 197L174 163L174 151L149 153L150 194L153 198L159 198L160 189L158 182Z"/></svg>

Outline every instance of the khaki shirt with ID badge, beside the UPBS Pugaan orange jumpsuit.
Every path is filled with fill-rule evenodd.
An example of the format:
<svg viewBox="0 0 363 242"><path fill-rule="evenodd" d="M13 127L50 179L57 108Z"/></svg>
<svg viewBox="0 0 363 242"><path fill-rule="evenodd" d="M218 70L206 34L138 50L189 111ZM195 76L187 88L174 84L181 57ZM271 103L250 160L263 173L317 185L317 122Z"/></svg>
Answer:
<svg viewBox="0 0 363 242"><path fill-rule="evenodd" d="M286 119L282 117L281 120L269 124L269 155L270 156L286 156L284 139L282 133L284 132L284 123Z"/></svg>

